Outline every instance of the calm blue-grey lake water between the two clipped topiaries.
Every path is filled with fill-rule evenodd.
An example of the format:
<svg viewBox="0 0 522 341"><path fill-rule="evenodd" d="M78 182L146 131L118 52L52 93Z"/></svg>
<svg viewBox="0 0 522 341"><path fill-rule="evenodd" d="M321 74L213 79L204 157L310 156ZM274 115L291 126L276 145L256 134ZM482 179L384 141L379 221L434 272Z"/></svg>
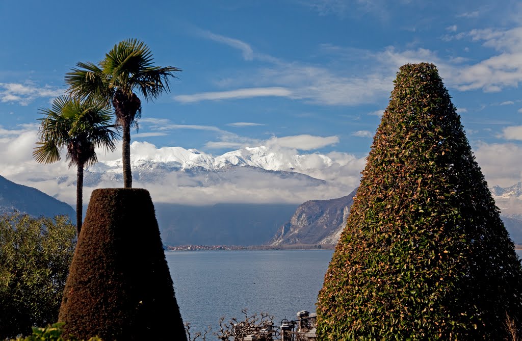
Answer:
<svg viewBox="0 0 522 341"><path fill-rule="evenodd" d="M192 331L218 329L241 309L293 320L315 311L333 250L166 251L177 303ZM517 250L522 257L522 250ZM212 339L212 337L210 338Z"/></svg>

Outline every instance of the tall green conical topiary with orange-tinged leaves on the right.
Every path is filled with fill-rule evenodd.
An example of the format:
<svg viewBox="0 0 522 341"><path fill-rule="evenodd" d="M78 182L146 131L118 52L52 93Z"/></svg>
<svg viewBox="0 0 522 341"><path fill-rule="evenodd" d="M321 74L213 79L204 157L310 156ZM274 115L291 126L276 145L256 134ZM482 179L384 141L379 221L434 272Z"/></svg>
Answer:
<svg viewBox="0 0 522 341"><path fill-rule="evenodd" d="M317 319L322 341L522 337L520 261L433 64L397 73Z"/></svg>

